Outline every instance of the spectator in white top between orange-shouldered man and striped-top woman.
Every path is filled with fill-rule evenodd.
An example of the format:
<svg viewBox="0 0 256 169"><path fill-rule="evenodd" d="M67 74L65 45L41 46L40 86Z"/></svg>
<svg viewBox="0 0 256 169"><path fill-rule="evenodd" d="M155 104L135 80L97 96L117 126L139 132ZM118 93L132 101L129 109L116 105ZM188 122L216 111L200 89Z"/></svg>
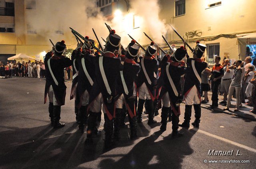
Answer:
<svg viewBox="0 0 256 169"><path fill-rule="evenodd" d="M230 66L230 59L225 59L224 65L223 65L224 76L221 79L221 86L220 86L220 91L224 92L224 94L223 94L224 98L223 98L223 101L220 102L220 104L227 104L226 100L227 100L227 96L228 96L228 90L229 90L229 86L232 82L232 77L233 77L233 73L234 73L234 70L228 69L229 66Z"/></svg>

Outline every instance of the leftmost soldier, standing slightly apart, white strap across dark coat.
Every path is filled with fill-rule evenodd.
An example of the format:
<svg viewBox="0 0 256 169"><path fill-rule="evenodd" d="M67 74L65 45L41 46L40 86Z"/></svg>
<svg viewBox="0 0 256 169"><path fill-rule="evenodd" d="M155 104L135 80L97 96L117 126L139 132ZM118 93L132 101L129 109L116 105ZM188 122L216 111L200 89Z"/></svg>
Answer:
<svg viewBox="0 0 256 169"><path fill-rule="evenodd" d="M62 128L60 123L60 106L65 104L66 85L64 83L64 68L72 65L72 61L62 55L65 50L65 41L57 42L54 46L54 55L47 53L44 63L46 69L46 84L44 90L44 103L49 96L49 112L54 128ZM51 115L52 114L52 115Z"/></svg>

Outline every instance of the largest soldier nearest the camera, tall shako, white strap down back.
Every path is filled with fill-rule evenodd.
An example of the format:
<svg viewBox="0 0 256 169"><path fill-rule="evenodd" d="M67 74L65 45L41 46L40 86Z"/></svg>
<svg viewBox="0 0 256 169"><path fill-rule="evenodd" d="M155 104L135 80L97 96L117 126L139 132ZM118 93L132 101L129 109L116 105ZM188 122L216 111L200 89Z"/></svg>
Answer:
<svg viewBox="0 0 256 169"><path fill-rule="evenodd" d="M105 146L113 145L113 119L115 118L114 106L116 98L116 76L123 69L120 57L114 54L120 47L121 37L111 30L107 37L106 52L103 57L95 59L95 80L89 98L89 119L86 142L92 142L92 131L96 124L96 118L103 105Z"/></svg>

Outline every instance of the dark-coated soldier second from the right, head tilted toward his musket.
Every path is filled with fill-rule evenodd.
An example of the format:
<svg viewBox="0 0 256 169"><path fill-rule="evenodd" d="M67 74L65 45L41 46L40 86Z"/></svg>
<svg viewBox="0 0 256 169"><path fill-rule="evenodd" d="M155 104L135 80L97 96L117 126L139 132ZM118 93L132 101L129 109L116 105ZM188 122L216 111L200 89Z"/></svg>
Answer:
<svg viewBox="0 0 256 169"><path fill-rule="evenodd" d="M160 91L162 100L162 125L160 130L166 130L167 118L170 107L172 109L172 136L181 135L178 132L178 123L180 116L180 99L182 96L180 88L180 77L185 74L185 63L182 59L186 55L186 49L183 46L178 48L172 57L169 57L166 63L162 63L161 77L163 85Z"/></svg>

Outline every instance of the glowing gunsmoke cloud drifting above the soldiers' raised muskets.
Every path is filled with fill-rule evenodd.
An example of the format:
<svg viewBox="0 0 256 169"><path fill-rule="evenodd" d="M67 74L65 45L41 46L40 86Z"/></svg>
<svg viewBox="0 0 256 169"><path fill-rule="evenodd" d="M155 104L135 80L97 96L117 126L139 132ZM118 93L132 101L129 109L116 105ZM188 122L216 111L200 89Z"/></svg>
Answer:
<svg viewBox="0 0 256 169"><path fill-rule="evenodd" d="M84 36L88 35L90 39L96 39L92 32L94 28L100 43L104 45L100 37L106 39L109 34L104 22L122 37L121 43L124 47L131 41L128 33L141 45L150 43L143 32L156 43L163 42L161 36L166 35L168 27L165 21L158 17L160 12L158 0L130 0L129 12L115 14L112 21L106 20L96 2L98 0L37 0L35 13L33 14L33 10L26 11L28 27L35 29L37 35L44 39L52 39L54 42L62 38L70 40L73 48L76 47L77 42L69 27ZM56 35L56 30L68 33L64 36Z"/></svg>

